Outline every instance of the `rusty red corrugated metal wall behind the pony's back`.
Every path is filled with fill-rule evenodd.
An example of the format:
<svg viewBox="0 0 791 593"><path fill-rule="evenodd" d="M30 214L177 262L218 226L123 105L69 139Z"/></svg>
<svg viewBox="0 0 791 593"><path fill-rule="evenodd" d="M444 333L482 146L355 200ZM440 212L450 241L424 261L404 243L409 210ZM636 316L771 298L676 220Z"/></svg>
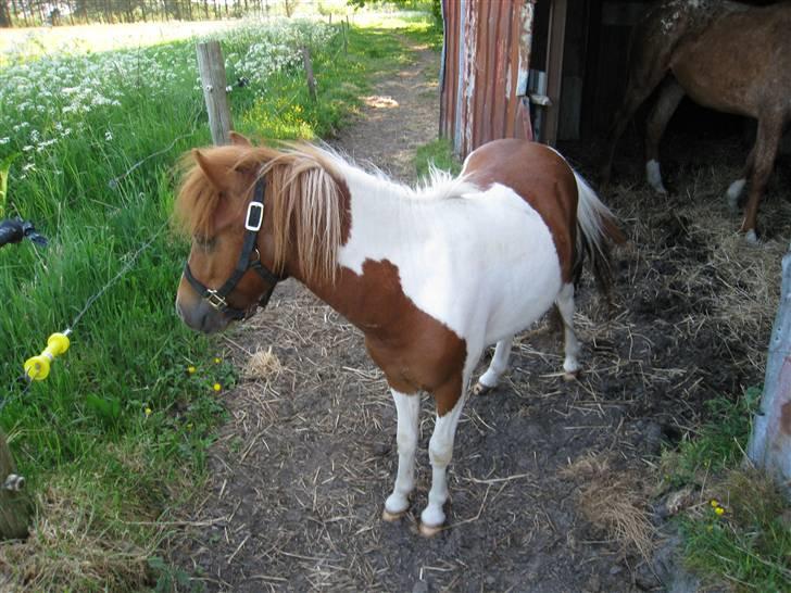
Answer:
<svg viewBox="0 0 791 593"><path fill-rule="evenodd" d="M527 99L536 0L442 0L440 135L462 157L498 138L532 139Z"/></svg>

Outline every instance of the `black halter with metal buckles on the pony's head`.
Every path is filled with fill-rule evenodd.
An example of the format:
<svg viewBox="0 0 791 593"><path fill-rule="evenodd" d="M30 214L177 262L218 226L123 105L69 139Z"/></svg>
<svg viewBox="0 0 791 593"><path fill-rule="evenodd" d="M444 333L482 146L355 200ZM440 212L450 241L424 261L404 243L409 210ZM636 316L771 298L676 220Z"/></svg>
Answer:
<svg viewBox="0 0 791 593"><path fill-rule="evenodd" d="M241 248L241 254L239 255L234 273L222 287L216 290L208 288L203 285L203 282L198 280L198 278L192 276L192 272L189 269L189 262L184 266L184 277L187 278L187 281L196 290L196 292L198 292L201 298L205 299L209 304L214 307L214 310L223 313L231 319L244 319L248 316L249 310L246 311L233 307L226 301L226 296L234 292L234 289L236 289L236 286L248 270L255 270L258 275L269 285L269 288L266 292L264 292L259 301L258 306L260 307L266 306L266 303L269 302L269 298L272 296L272 292L275 290L275 286L284 279L281 276L278 276L264 267L261 263L261 253L259 253L259 249L255 247L259 240L259 230L261 230L261 227L264 224L265 187L266 184L263 177L255 182L255 192L253 194L253 199L248 204L248 212L244 218L244 244ZM255 252L256 257L255 260L250 261L250 256L253 251Z"/></svg>

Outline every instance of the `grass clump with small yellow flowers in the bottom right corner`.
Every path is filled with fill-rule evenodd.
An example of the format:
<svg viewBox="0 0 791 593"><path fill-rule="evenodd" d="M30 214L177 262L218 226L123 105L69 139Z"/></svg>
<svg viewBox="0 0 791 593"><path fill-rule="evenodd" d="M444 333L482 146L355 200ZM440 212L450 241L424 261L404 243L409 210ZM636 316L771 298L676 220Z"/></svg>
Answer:
<svg viewBox="0 0 791 593"><path fill-rule="evenodd" d="M791 591L791 508L769 478L742 464L759 398L750 388L734 401L712 400L711 419L662 466L669 487L703 489L704 504L678 519L689 569L715 586Z"/></svg>

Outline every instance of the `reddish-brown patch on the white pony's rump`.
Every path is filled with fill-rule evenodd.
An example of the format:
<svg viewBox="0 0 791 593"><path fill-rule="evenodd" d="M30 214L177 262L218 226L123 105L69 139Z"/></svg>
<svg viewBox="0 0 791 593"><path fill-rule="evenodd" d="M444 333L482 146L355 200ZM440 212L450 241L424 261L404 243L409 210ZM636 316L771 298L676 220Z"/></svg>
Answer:
<svg viewBox="0 0 791 593"><path fill-rule="evenodd" d="M537 142L499 140L473 152L463 173L469 175L470 181L481 189L501 184L530 204L552 234L563 281L570 282L574 279L577 261L577 180L561 155Z"/></svg>

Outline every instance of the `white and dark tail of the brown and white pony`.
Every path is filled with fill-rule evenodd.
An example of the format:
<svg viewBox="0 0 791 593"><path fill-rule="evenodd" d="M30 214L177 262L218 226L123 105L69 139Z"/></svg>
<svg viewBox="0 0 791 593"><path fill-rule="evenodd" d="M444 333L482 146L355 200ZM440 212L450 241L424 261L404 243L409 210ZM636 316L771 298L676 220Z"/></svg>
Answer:
<svg viewBox="0 0 791 593"><path fill-rule="evenodd" d="M613 286L610 243L624 243L626 236L618 228L615 215L605 206L581 175L577 179L577 258L574 280L578 283L586 256L590 258L599 291L610 301Z"/></svg>

